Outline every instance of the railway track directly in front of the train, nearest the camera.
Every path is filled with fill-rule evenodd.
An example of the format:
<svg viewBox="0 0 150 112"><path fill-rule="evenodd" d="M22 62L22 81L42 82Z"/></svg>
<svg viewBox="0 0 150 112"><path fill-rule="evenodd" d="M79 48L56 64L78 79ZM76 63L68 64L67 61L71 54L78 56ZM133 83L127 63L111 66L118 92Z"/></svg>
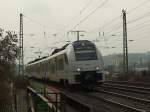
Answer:
<svg viewBox="0 0 150 112"><path fill-rule="evenodd" d="M78 96L80 94L80 96ZM75 95L76 98L92 106L92 112L146 112L143 109L138 109L112 99L108 99L99 93L83 93L79 92Z"/></svg>

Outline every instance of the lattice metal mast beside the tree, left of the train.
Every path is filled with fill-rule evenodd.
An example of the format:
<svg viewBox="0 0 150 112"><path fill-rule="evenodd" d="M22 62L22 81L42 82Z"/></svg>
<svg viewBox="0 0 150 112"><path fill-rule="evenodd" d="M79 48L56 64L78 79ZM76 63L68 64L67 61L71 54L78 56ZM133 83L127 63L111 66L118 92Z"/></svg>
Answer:
<svg viewBox="0 0 150 112"><path fill-rule="evenodd" d="M24 55L23 55L23 14L20 14L19 29L19 75L24 75Z"/></svg>

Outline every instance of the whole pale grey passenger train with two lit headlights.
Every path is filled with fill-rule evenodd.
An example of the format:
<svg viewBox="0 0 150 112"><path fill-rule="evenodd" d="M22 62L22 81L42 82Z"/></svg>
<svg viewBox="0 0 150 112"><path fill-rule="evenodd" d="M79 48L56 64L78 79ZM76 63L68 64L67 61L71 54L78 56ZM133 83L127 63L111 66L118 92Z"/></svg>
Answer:
<svg viewBox="0 0 150 112"><path fill-rule="evenodd" d="M89 40L79 40L29 62L25 73L30 78L93 88L105 81L103 66L97 46Z"/></svg>

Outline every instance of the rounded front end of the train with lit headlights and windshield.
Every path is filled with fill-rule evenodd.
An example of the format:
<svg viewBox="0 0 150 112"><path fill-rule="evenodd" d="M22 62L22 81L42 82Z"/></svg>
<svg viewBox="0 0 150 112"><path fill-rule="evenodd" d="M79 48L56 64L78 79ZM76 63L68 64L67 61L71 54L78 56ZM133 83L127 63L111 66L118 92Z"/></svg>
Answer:
<svg viewBox="0 0 150 112"><path fill-rule="evenodd" d="M75 41L73 44L71 68L75 84L95 86L104 81L103 61L95 44L87 41Z"/></svg>

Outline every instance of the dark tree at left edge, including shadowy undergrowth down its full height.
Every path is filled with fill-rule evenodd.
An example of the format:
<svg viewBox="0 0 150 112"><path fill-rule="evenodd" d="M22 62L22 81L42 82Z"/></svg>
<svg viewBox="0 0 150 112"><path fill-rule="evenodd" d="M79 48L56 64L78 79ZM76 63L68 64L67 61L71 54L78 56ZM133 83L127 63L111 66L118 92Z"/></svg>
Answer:
<svg viewBox="0 0 150 112"><path fill-rule="evenodd" d="M17 34L0 28L0 101L11 97L15 62L18 56Z"/></svg>

